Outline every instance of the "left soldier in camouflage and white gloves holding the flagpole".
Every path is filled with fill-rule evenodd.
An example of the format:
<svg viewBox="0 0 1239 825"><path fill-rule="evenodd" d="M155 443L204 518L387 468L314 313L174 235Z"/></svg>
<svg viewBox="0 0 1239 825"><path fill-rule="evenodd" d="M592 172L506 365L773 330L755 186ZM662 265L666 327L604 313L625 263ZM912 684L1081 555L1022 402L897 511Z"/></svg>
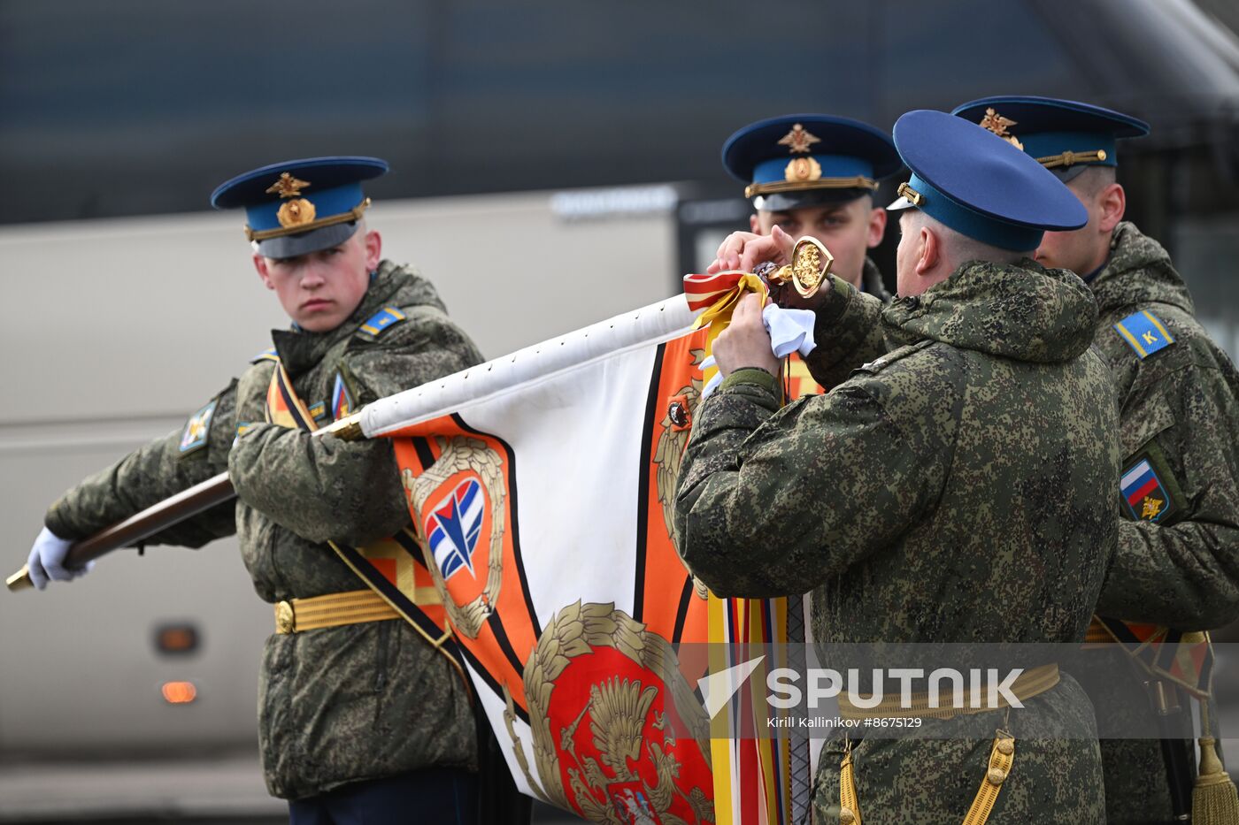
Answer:
<svg viewBox="0 0 1239 825"><path fill-rule="evenodd" d="M325 424L481 360L430 281L380 260L380 238L361 219L368 201L359 181L385 170L377 159L292 161L217 190L216 206L248 207L255 266L294 328L273 332L274 349L185 431L64 493L31 552L36 586L48 575L73 575L62 566L68 541L228 471L235 502L147 543L198 548L237 533L254 588L271 603L359 588L370 595L325 543L363 545L409 523L392 445L312 437L264 417L279 365ZM297 207L291 218L290 203ZM276 218L280 207L285 216ZM263 222L275 228L264 235ZM268 788L291 800L294 823L361 821L352 816L362 810L367 823L411 821L413 811L426 818L419 821L473 823L470 689L394 611L372 619L306 632L285 627L266 640L259 740Z"/></svg>

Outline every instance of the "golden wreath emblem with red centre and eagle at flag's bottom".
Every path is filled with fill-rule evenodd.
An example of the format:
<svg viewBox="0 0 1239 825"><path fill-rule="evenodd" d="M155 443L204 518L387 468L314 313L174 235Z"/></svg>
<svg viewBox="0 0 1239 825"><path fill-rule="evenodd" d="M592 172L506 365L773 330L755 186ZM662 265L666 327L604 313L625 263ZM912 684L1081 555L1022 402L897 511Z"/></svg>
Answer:
<svg viewBox="0 0 1239 825"><path fill-rule="evenodd" d="M582 674L560 679L579 657L612 650L627 660L632 671L627 676L593 671L585 676L589 684L576 678ZM613 603L579 601L543 631L523 681L540 782L517 736L507 686L503 717L517 763L540 799L577 810L592 823L715 821L714 803L703 787L710 783L710 720L667 639L646 632ZM655 707L660 692L663 712ZM689 731L686 740L676 740L668 725L673 709ZM582 723L587 738L577 733ZM641 819L650 813L657 819Z"/></svg>

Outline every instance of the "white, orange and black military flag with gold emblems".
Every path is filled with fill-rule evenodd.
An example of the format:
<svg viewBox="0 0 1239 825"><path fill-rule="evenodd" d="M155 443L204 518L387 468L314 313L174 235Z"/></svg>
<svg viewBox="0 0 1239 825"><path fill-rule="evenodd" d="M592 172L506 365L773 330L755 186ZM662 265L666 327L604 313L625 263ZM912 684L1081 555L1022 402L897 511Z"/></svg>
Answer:
<svg viewBox="0 0 1239 825"><path fill-rule="evenodd" d="M712 286L693 307L746 289L730 274L689 291ZM790 815L786 751L711 746L704 645L678 658L683 643L781 640L771 619L786 612L711 601L675 551L674 483L719 328L694 316L676 296L357 415L364 436L393 440L425 566L518 787L591 821ZM711 622L711 603L742 621Z"/></svg>

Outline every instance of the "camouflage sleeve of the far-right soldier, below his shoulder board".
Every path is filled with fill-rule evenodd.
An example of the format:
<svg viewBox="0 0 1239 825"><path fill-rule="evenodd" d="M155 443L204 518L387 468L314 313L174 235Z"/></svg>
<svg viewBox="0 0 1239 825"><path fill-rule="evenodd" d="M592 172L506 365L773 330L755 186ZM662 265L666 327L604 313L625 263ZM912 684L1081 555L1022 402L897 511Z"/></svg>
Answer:
<svg viewBox="0 0 1239 825"><path fill-rule="evenodd" d="M1145 520L1123 519L1098 612L1186 629L1239 618L1239 386L1227 367L1178 369L1139 410L1124 411L1125 427L1172 422L1124 463L1127 472L1150 461L1170 504L1160 522L1144 507L1136 515Z"/></svg>

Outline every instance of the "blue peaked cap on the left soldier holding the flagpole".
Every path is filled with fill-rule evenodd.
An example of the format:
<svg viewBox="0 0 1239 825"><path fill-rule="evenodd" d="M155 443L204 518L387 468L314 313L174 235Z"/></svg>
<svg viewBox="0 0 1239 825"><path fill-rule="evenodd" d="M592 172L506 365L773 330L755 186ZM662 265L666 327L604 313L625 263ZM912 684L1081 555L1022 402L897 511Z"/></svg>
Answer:
<svg viewBox="0 0 1239 825"><path fill-rule="evenodd" d="M245 237L268 258L328 249L353 237L370 201L362 181L388 171L378 157L306 157L261 166L221 183L217 209L245 209Z"/></svg>

